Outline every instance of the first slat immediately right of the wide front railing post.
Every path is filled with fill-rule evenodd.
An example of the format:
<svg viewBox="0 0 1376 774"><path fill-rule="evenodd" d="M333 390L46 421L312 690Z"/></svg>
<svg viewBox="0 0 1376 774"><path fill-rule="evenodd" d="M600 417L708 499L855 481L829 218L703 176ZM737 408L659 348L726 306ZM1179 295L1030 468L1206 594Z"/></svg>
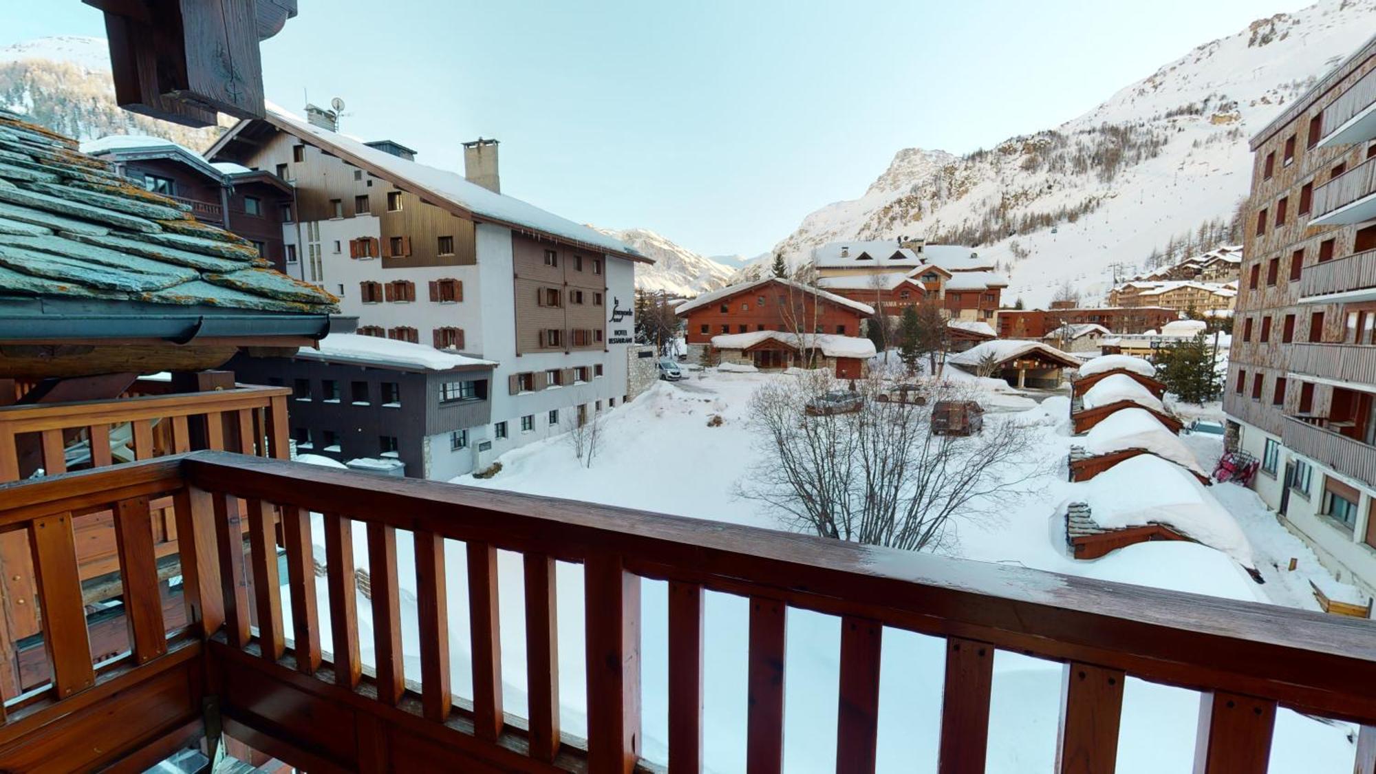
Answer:
<svg viewBox="0 0 1376 774"><path fill-rule="evenodd" d="M702 587L669 581L669 768L702 771Z"/></svg>

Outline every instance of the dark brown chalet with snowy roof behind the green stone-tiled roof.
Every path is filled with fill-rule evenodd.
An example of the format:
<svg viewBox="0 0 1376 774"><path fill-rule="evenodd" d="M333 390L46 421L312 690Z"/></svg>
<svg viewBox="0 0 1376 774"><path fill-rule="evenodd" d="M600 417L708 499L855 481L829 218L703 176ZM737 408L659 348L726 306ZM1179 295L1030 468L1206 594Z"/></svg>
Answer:
<svg viewBox="0 0 1376 774"><path fill-rule="evenodd" d="M135 185L190 207L202 223L244 237L278 271L292 263L296 274L296 251L288 252L282 238L282 224L293 220L294 196L282 178L233 163L212 164L189 147L154 136L109 135L81 143L81 150L109 161Z"/></svg>

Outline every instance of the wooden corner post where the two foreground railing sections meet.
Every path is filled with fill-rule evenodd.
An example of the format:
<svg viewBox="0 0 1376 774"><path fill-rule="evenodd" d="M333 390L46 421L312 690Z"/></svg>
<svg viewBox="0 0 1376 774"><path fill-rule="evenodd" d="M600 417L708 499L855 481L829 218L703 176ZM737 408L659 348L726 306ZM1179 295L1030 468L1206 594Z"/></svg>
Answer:
<svg viewBox="0 0 1376 774"><path fill-rule="evenodd" d="M195 488L182 489L173 497L186 621L200 624L198 634L206 638L224 625L224 588L220 585L213 497Z"/></svg>

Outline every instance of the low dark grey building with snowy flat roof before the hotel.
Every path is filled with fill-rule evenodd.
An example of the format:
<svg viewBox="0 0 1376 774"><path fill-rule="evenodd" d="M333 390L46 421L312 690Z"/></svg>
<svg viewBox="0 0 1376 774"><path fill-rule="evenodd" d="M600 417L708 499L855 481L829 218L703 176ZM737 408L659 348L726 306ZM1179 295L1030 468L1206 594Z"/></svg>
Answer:
<svg viewBox="0 0 1376 774"><path fill-rule="evenodd" d="M330 333L290 355L245 353L228 365L245 381L290 387L290 434L299 454L439 481L483 468L491 459L476 437L491 421L495 366L427 344L356 333Z"/></svg>

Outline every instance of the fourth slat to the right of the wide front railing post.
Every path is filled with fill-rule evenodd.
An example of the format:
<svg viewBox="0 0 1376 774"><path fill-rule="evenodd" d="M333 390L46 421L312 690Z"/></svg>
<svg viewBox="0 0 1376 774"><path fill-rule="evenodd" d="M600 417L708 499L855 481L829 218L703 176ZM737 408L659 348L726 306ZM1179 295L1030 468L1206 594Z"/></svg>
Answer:
<svg viewBox="0 0 1376 774"><path fill-rule="evenodd" d="M984 774L992 687L993 646L969 639L947 639L941 744L937 753L937 771L941 774Z"/></svg>

